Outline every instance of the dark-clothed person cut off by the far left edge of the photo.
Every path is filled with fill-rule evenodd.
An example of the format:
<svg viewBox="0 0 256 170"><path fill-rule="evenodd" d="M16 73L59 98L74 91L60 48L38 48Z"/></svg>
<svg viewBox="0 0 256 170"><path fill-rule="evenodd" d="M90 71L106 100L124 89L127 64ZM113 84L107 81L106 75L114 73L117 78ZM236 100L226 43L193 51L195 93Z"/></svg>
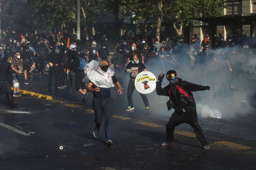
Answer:
<svg viewBox="0 0 256 170"><path fill-rule="evenodd" d="M9 107L16 107L17 104L13 103L13 94L9 83L9 75L12 72L11 62L12 56L9 53L6 53L3 60L0 61L0 93L4 92L7 94Z"/></svg>

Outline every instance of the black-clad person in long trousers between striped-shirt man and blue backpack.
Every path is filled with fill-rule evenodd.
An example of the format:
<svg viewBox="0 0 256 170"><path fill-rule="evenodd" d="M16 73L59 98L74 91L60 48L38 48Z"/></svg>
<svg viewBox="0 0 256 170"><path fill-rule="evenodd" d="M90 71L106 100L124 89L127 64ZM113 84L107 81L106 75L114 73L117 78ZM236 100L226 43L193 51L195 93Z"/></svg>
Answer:
<svg viewBox="0 0 256 170"><path fill-rule="evenodd" d="M50 52L46 58L47 63L49 63L49 77L48 77L48 88L51 90L52 87L52 77L55 75L54 87L55 91L58 91L58 79L60 73L60 66L62 64L62 58L60 54L60 49L55 47L54 51Z"/></svg>

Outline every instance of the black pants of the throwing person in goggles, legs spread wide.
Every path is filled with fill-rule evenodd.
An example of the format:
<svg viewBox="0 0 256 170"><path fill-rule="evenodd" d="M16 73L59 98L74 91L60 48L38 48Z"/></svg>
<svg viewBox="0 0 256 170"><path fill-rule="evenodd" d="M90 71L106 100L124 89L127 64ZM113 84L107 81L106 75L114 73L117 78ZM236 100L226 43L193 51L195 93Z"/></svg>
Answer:
<svg viewBox="0 0 256 170"><path fill-rule="evenodd" d="M208 145L204 138L203 130L198 124L196 109L186 112L184 115L180 115L176 111L172 113L170 120L166 124L166 141L173 141L173 132L175 127L183 123L187 123L192 126L195 131L195 135L203 146Z"/></svg>

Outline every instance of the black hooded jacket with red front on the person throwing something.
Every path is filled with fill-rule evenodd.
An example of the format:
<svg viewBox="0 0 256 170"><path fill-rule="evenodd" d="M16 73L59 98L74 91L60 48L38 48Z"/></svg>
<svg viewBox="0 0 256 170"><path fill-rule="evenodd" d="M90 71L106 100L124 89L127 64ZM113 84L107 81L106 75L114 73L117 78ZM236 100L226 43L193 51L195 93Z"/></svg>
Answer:
<svg viewBox="0 0 256 170"><path fill-rule="evenodd" d="M177 78L176 84L169 84L163 89L160 81L156 82L157 95L169 96L170 100L167 102L168 110L171 108L181 115L191 110L196 109L195 98L192 92L204 90L201 85L193 84L188 81L183 81Z"/></svg>

